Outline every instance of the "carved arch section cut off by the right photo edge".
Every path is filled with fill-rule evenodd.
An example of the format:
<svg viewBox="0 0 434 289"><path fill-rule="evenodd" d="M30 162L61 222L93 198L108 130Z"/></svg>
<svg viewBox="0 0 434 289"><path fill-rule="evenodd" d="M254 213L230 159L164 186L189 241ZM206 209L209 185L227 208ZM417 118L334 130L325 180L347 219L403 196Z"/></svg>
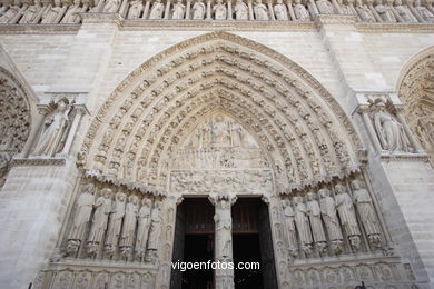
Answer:
<svg viewBox="0 0 434 289"><path fill-rule="evenodd" d="M418 142L434 159L434 49L421 53L405 69L398 97L404 116Z"/></svg>

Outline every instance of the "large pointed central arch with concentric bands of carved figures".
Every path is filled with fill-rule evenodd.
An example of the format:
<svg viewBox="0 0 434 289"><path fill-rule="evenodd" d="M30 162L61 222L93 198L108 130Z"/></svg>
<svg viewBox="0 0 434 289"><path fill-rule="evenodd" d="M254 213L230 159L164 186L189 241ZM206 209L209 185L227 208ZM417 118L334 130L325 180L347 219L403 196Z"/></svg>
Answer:
<svg viewBox="0 0 434 289"><path fill-rule="evenodd" d="M241 142L234 139L237 129L246 132ZM215 130L213 139L206 130ZM269 48L216 32L171 47L131 72L101 107L81 156L93 173L169 189L183 151L233 147L256 150L285 190L351 173L362 144L309 73Z"/></svg>

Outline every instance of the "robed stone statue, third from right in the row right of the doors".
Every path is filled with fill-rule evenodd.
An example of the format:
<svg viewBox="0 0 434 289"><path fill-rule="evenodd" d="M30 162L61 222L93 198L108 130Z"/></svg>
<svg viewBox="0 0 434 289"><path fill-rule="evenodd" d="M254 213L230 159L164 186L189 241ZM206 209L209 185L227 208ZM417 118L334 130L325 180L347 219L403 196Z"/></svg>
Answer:
<svg viewBox="0 0 434 289"><path fill-rule="evenodd" d="M323 188L318 191L320 197L320 212L326 226L328 238L334 253L338 255L342 251L343 236L341 231L339 220L337 219L336 203L331 197L331 191Z"/></svg>

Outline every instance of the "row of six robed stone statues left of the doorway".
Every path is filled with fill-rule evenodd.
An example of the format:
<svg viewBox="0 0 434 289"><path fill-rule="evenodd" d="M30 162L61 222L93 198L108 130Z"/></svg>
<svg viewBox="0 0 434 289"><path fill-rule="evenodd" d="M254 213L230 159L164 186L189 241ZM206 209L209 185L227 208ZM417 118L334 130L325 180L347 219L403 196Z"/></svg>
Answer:
<svg viewBox="0 0 434 289"><path fill-rule="evenodd" d="M157 256L161 232L161 201L145 196L127 196L122 191L95 185L82 187L71 216L66 251L76 257L81 248L89 257L120 256L129 260L152 261Z"/></svg>

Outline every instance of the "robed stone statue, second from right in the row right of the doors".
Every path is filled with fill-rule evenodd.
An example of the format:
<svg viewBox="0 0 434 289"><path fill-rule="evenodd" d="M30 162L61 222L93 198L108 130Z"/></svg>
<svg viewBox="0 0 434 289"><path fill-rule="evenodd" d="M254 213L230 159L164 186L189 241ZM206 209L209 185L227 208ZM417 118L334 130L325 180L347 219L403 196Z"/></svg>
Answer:
<svg viewBox="0 0 434 289"><path fill-rule="evenodd" d="M335 190L336 208L339 213L342 226L348 236L352 247L358 250L361 248L361 231L358 229L352 198L342 185L336 185Z"/></svg>

